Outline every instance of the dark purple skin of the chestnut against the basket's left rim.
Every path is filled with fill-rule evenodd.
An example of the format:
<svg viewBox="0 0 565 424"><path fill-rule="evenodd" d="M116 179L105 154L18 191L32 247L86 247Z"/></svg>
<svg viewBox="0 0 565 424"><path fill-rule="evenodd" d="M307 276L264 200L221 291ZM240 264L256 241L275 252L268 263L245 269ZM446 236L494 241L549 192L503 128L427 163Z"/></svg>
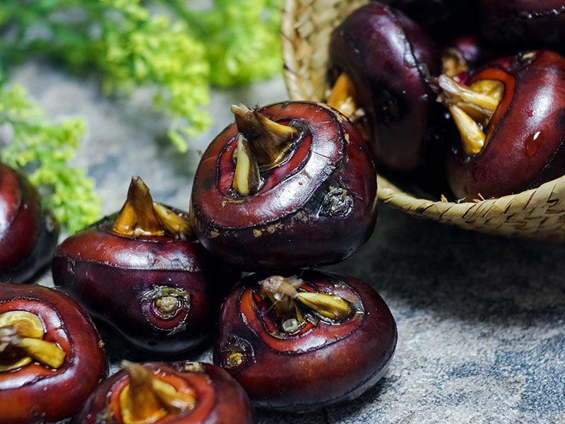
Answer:
<svg viewBox="0 0 565 424"><path fill-rule="evenodd" d="M331 85L350 77L379 170L420 167L439 119L429 81L441 73L441 54L432 37L397 8L366 4L333 30L328 73Z"/></svg>

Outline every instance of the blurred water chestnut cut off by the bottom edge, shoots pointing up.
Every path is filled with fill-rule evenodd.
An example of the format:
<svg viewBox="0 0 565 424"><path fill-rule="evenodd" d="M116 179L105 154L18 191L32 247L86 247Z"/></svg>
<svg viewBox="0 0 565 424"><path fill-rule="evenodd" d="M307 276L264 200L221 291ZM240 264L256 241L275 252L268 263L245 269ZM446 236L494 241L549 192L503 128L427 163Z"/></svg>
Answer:
<svg viewBox="0 0 565 424"><path fill-rule="evenodd" d="M244 389L208 363L131 363L93 391L76 424L253 424Z"/></svg>

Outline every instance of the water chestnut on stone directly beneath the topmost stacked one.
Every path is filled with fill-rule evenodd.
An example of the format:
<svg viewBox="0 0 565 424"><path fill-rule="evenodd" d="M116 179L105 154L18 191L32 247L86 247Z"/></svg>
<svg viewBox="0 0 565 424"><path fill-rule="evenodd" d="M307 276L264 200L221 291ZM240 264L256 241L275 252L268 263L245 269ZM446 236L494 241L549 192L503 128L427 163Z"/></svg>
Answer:
<svg viewBox="0 0 565 424"><path fill-rule="evenodd" d="M376 291L319 270L251 274L227 297L213 360L258 408L304 412L355 399L383 377L396 322Z"/></svg>

